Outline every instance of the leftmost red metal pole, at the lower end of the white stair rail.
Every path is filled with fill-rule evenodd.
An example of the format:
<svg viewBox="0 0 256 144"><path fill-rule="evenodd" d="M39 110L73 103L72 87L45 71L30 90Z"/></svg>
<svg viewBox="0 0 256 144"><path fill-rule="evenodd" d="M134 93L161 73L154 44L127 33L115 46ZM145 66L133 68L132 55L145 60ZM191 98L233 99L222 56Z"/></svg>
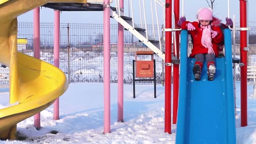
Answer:
<svg viewBox="0 0 256 144"><path fill-rule="evenodd" d="M171 28L172 0L165 0L165 28ZM171 133L171 32L165 32L165 132ZM168 66L167 66L168 64Z"/></svg>

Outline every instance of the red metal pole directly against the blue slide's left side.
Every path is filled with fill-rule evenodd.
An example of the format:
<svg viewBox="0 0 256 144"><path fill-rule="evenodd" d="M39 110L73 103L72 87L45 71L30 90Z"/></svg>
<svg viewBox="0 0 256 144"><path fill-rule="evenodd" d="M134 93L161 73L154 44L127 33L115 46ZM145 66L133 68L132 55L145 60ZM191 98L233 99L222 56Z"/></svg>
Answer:
<svg viewBox="0 0 256 144"><path fill-rule="evenodd" d="M175 16L175 28L177 29L177 23L179 21L179 0L174 0L174 16ZM179 59L179 32L176 31L176 48L177 54L173 53ZM179 99L179 64L173 65L173 124L177 122L177 110Z"/></svg>

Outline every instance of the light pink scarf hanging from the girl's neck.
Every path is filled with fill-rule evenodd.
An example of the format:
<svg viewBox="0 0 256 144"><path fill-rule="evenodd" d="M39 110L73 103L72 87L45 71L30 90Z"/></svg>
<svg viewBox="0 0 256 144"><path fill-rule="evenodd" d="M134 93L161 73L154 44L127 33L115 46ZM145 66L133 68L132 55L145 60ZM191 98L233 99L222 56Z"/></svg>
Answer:
<svg viewBox="0 0 256 144"><path fill-rule="evenodd" d="M211 43L211 26L210 24L208 26L202 26L203 28L203 34L201 38L201 43L205 48L208 48L208 53L214 53L213 51L213 44Z"/></svg>

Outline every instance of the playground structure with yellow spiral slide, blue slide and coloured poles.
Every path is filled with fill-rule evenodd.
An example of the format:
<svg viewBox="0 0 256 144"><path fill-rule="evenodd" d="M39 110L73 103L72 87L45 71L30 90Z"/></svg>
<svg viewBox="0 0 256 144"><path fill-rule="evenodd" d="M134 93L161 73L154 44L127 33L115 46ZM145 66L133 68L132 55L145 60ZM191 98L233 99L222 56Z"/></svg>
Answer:
<svg viewBox="0 0 256 144"><path fill-rule="evenodd" d="M103 1L103 0L102 0ZM93 1L92 1L93 2ZM230 83L233 83L232 81L232 53L231 53L231 43L225 43L226 48L226 57L222 59L217 59L216 62L218 64L218 67L221 69L225 69L223 72L218 73L217 69L217 77L216 80L212 83L205 82L206 85L203 85L202 81L198 83L189 83L189 85L186 86L186 82L191 81L191 77L186 77L189 72L191 75L191 59L187 58L186 54L182 55L181 51L181 84L179 85L179 63L172 63L173 61L176 61L179 59L179 39L176 38L174 40L175 42L175 53L174 56L171 53L171 37L172 37L172 31L176 31L178 29L171 29L172 24L172 0L165 0L165 48L163 49L161 42L155 40L155 37L149 37L147 34L147 28L140 28L138 25L134 24L133 16L132 18L125 16L123 13L123 0L117 0L118 2L116 8L112 8L109 5L109 0L104 0L104 4L99 7L99 5L93 5L88 4L89 10L95 10L95 11L104 11L104 133L110 132L110 68L109 68L109 59L110 59L110 53L109 53L109 16L112 16L112 18L116 19L119 22L118 26L118 119L117 121L123 121L123 28L129 30L133 35L139 38L139 40L145 45L147 45L149 48L152 49L158 56L160 56L163 60L165 60L165 132L171 133L171 69L173 67L173 123L176 123L177 119L177 109L178 109L178 95L179 97L179 117L178 117L178 125L177 125L177 134L176 134L176 142L177 143L202 143L202 142L224 142L224 143L233 143L235 142L235 112L234 111L234 94L230 91L233 90L232 86L229 85ZM152 2L152 1L151 1ZM247 24L246 24L246 3L248 1L246 0L240 0L240 27L241 29L241 126L247 125ZM15 4L19 4L20 6L17 7L14 11L14 14L10 16L10 11L7 11L7 9L10 9L14 7ZM58 97L61 96L62 93L67 89L67 80L65 75L56 67L58 67L59 61L54 61L54 65L56 67L53 67L50 64L46 64L40 60L37 60L40 57L39 49L40 49L40 32L39 32L39 8L38 6L44 5L45 7L54 8L59 11L78 11L81 10L81 6L83 5L75 5L77 7L73 9L68 9L67 6L68 3L70 5L74 6L74 3L88 3L86 0L38 0L37 2L31 3L30 7L24 8L22 4L29 3L27 0L2 0L0 1L0 18L4 19L1 23L5 26L2 27L1 30L3 31L3 34L5 34L5 38L3 40L0 40L0 43L5 43L5 45L0 48L4 49L1 53L0 62L3 64L6 64L10 67L10 104L16 103L19 101L19 104L16 104L14 106L1 109L0 113L3 116L0 117L0 123L8 122L8 125L5 125L5 127L0 126L0 132L4 133L3 135L0 135L0 138L9 138L14 139L15 133L16 133L16 123L18 123L21 120L24 120L27 117L30 117L32 115L35 115L36 113L40 112L41 110L45 109L46 107L50 106L55 99L57 99L57 103L55 103L54 107L58 107ZM143 1L144 3L144 1ZM90 7L91 6L91 7ZM22 13L25 13L27 11L30 11L34 9L34 56L37 59L34 59L32 57L26 56L21 53L16 52L16 17L19 16ZM132 3L131 3L132 8ZM88 11L88 8L84 8L81 11ZM58 57L58 41L59 41L59 11L55 11L55 47L54 48L54 55ZM133 11L132 11L133 12ZM182 14L183 15L183 14ZM179 0L174 0L174 16L175 16L175 25L176 22L179 20ZM158 20L157 20L158 21ZM147 24L146 24L147 25ZM12 28L12 29L11 29ZM8 31L11 29L11 31ZM11 33L8 33L11 32ZM10 37L8 37L10 34L12 34ZM176 36L179 35L178 32L175 32ZM231 34L229 30L225 30L225 42L227 42L231 38ZM186 31L181 32L181 47L183 46L183 50L187 49L187 33ZM9 41L8 41L9 39ZM231 41L231 40L230 40ZM14 43L13 45L10 45L11 43ZM8 46L7 46L8 45ZM9 46L10 45L10 46ZM186 52L183 52L186 53ZM29 61L29 62L28 62ZM26 64L25 64L26 62ZM226 62L226 65L224 63ZM223 65L221 65L221 63ZM39 67L40 66L40 67ZM36 70L35 70L36 69ZM187 69L187 70L186 70ZM38 72L38 70L40 72ZM42 72L43 71L43 72ZM186 73L188 72L188 74ZM57 73L57 74L56 74ZM31 75L28 75L31 74ZM46 75L47 74L47 75ZM61 77L60 77L61 75ZM47 76L47 77L46 77ZM50 78L49 78L49 77ZM46 78L45 78L46 77ZM221 78L225 79L222 80ZM43 91L35 91L37 88L32 88L31 86L35 86L36 83L45 83L46 86L49 87L43 87L40 88L45 92L45 89L48 90L48 92L43 93ZM192 87L195 87L195 85L203 85L204 87L207 87L207 85L215 85L216 83L221 83L221 85L224 87L223 93L212 93L212 95L219 96L218 99L215 99L215 101L211 101L214 103L213 105L220 106L220 102L225 101L226 103L219 107L219 109L211 109L211 112L209 112L209 107L203 107L205 105L200 105L198 101L204 101L205 99L196 98L199 100L194 100L192 103L188 103L193 97L198 95L195 91L192 91ZM47 84L46 84L47 83ZM56 87L53 87L53 85L56 85L58 83L59 85ZM44 86L45 86L44 85ZM221 86L219 85L219 86ZM38 85L37 85L38 86ZM41 86L41 85L40 85ZM186 91L184 93L179 94L179 88L186 87ZM51 87L51 88L50 88ZM19 92L19 88L26 89L26 91L23 93ZM34 91L32 91L34 90ZM190 95L188 95L188 93ZM29 97L27 97L29 96ZM52 96L51 99L47 99L44 96ZM54 97L53 97L54 96ZM222 99L221 96L228 97L229 99ZM213 97L213 96L209 96ZM46 98L46 99L45 99ZM22 101L22 102L21 102ZM206 100L205 100L206 101ZM27 107L27 104L29 103L36 103L31 104L31 107ZM209 99L208 102L209 104ZM189 106L189 107L188 107ZM24 108L26 107L26 109ZM204 108L204 116L200 114L195 114L193 111L189 111L188 109L202 109ZM17 108L19 110L17 110ZM23 109L24 108L24 109ZM223 114L220 115L218 112L224 111L224 115L227 114L227 116L223 117ZM13 113L11 113L13 112ZM27 113L29 112L29 113ZM55 114L57 116L54 116L55 119L58 119L58 108L57 110L54 110L56 112ZM225 113L227 112L227 113ZM192 124L196 122L198 117L202 118L202 120L208 120L208 116L210 115L218 115L219 118L217 118L221 122L213 122L213 123L199 123L202 127L201 129L197 129L198 127L193 127ZM19 117L19 119L17 117ZM15 118L14 118L15 117ZM10 118L8 121L5 121L6 118ZM35 116L35 126L40 127L40 114L37 114ZM205 119L204 119L205 118ZM15 119L15 121L13 121ZM214 120L214 119L213 119ZM224 122L223 122L224 121ZM223 123L229 123L229 125L224 125ZM214 131L219 132L223 131L223 134L221 136L214 135L214 133L205 133L205 130L210 130L213 125L219 125L218 128L216 128ZM188 131L186 130L186 126L189 127ZM198 126L198 125L196 125ZM201 133L198 133L198 131L201 131ZM204 133L203 133L204 132ZM197 134L197 135L193 135ZM211 135L211 137L210 137ZM184 138L187 139L184 139ZM201 141L199 141L199 138ZM216 141L209 141L211 139L216 139ZM224 139L228 139L227 141L224 141ZM182 141L184 140L184 141Z"/></svg>

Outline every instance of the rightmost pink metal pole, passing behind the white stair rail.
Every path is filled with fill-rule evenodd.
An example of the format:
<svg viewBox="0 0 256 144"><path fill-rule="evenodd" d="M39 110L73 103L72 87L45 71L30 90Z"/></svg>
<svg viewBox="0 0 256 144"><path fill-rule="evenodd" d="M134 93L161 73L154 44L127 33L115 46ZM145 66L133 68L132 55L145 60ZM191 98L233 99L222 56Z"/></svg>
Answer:
<svg viewBox="0 0 256 144"><path fill-rule="evenodd" d="M123 0L120 0L123 8ZM122 11L123 12L123 11ZM118 23L118 79L117 79L117 121L123 122L123 26Z"/></svg>

